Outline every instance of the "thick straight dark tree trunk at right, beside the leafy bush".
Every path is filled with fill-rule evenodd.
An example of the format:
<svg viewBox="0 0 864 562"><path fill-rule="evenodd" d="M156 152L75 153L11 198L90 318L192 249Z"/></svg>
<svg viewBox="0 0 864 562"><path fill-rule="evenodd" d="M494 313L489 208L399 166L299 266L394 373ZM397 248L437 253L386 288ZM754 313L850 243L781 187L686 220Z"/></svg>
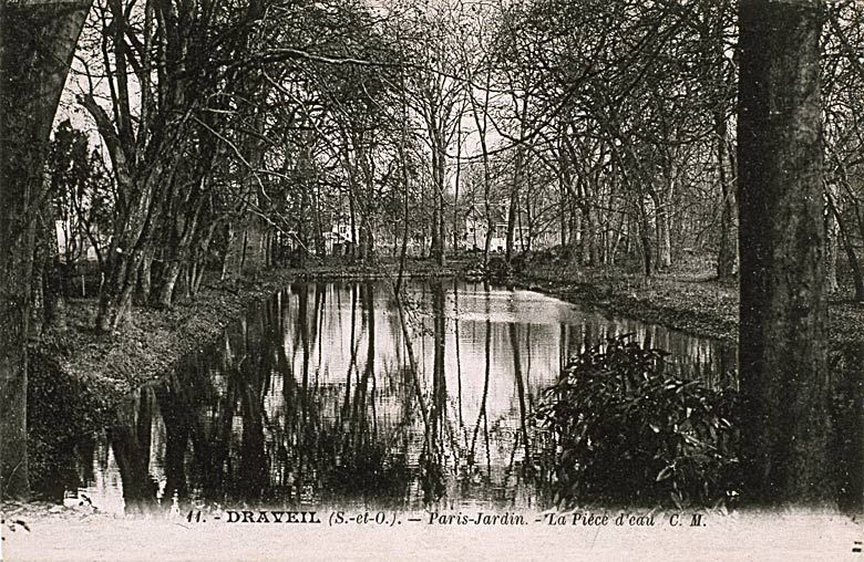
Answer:
<svg viewBox="0 0 864 562"><path fill-rule="evenodd" d="M738 121L745 499L832 499L822 190L824 3L742 0Z"/></svg>

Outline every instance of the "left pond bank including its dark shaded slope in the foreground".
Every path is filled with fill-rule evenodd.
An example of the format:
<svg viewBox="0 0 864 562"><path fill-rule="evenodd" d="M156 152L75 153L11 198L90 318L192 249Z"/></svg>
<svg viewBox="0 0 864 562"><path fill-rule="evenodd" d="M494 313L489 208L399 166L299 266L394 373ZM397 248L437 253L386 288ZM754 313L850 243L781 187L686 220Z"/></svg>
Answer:
<svg viewBox="0 0 864 562"><path fill-rule="evenodd" d="M31 344L28 423L30 479L33 489L56 501L63 490L51 489L62 473L75 481L70 457L82 435L114 423L117 405L133 389L171 373L186 355L214 341L248 308L295 282L342 279L395 279L393 263L317 266L302 270L263 271L254 278L213 280L194 300L167 310L134 306L120 333L96 334L95 299L70 299L68 330L48 331ZM452 268L409 262L411 278L453 277ZM62 479L62 478L61 478Z"/></svg>

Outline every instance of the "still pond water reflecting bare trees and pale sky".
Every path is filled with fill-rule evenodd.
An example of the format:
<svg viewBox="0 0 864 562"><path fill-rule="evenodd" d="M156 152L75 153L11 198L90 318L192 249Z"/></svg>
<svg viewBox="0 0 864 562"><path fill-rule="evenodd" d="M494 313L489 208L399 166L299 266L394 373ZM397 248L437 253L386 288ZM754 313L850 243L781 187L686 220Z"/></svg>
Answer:
<svg viewBox="0 0 864 562"><path fill-rule="evenodd" d="M116 512L175 496L545 509L533 412L568 356L635 333L688 376L736 364L731 345L531 291L425 281L409 294L400 309L384 281L285 289L85 438L73 491Z"/></svg>

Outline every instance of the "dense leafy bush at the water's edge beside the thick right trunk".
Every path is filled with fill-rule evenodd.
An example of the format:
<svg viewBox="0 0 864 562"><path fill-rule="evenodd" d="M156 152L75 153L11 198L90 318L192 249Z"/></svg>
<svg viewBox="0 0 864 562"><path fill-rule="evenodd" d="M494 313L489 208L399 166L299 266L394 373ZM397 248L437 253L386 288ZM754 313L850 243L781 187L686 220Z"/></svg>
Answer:
<svg viewBox="0 0 864 562"><path fill-rule="evenodd" d="M553 491L576 502L714 507L737 496L730 376L720 386L666 373L629 335L575 357L538 409L556 440Z"/></svg>

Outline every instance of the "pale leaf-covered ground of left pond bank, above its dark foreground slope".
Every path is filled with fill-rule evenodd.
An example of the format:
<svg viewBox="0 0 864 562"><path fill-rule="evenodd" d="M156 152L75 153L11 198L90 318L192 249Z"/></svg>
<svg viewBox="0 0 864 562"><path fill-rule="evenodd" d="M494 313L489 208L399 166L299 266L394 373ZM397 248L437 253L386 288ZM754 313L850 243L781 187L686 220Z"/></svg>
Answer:
<svg viewBox="0 0 864 562"><path fill-rule="evenodd" d="M452 277L456 270L411 263L412 278ZM120 396L171 371L186 354L218 336L240 313L294 282L395 277L394 264L276 269L253 279L214 281L194 300L167 310L135 306L132 321L113 336L93 331L95 299L70 299L64 333L47 333L31 346L37 366L53 364L62 373L95 383Z"/></svg>

